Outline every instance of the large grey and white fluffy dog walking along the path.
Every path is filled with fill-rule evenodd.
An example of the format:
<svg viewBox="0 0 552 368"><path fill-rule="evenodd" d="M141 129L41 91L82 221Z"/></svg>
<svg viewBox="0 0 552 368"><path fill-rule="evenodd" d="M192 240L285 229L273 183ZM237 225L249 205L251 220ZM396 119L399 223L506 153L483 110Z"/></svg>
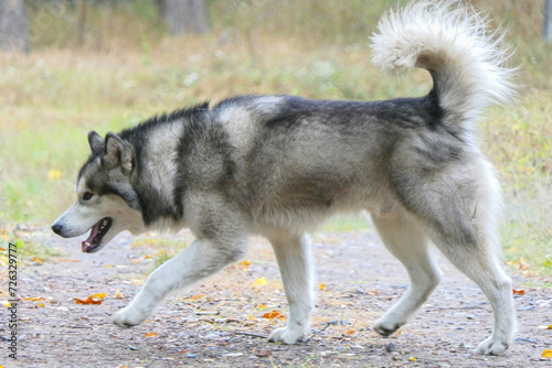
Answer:
<svg viewBox="0 0 552 368"><path fill-rule="evenodd" d="M514 333L510 278L499 264L500 187L476 125L492 102L516 95L498 33L458 1L416 1L385 14L371 37L384 72L427 69L424 97L381 101L240 96L159 115L105 138L92 131L78 198L55 220L62 237L91 231L82 251L118 232L189 228L197 237L160 266L114 315L144 322L171 291L241 259L251 235L274 248L289 304L270 342L310 332L311 231L339 212L368 210L412 285L374 324L389 336L438 284L433 242L482 290L492 335L477 350L503 354Z"/></svg>

